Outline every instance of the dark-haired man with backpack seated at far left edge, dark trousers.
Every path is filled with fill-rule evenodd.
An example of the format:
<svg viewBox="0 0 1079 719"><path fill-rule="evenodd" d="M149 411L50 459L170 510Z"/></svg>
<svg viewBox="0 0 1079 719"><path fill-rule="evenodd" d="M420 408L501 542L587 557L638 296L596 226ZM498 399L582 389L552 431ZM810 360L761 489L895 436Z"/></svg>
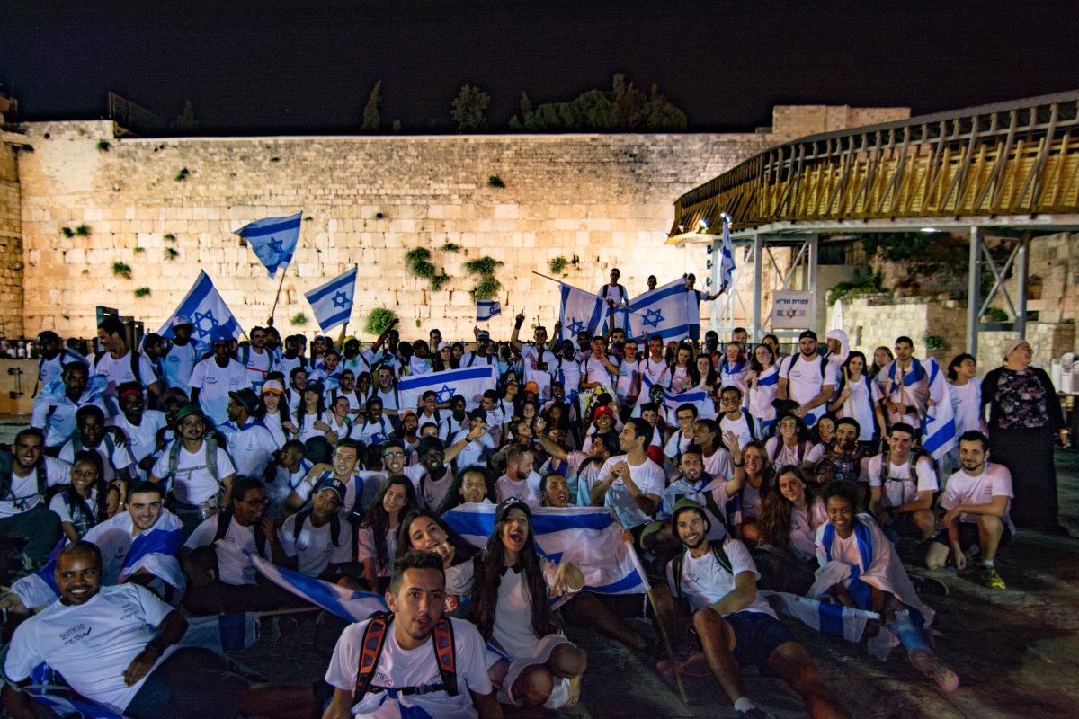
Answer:
<svg viewBox="0 0 1079 719"><path fill-rule="evenodd" d="M45 494L71 481L71 466L43 456L44 446L44 433L28 427L15 435L10 451L0 450L0 537L26 540L17 576L43 567L60 538L60 517L49 510Z"/></svg>

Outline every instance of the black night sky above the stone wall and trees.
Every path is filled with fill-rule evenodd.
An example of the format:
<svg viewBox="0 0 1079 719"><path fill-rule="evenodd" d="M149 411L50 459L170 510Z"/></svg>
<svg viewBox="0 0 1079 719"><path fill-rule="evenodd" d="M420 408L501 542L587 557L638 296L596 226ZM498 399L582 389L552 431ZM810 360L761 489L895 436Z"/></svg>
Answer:
<svg viewBox="0 0 1079 719"><path fill-rule="evenodd" d="M23 120L101 116L112 89L201 134L354 133L382 80L382 120L452 132L465 83L492 130L540 102L659 91L694 130L770 124L777 103L910 106L916 114L1079 87L1079 3L166 3L4 0L0 82Z"/></svg>

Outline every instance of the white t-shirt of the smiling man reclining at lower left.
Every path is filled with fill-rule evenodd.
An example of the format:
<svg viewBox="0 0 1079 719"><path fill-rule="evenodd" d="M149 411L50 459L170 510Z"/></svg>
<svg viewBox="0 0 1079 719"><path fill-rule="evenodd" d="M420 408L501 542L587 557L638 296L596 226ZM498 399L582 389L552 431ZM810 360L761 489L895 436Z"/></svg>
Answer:
<svg viewBox="0 0 1079 719"><path fill-rule="evenodd" d="M150 590L131 583L103 586L78 606L54 602L15 630L4 674L21 681L45 662L83 696L123 713L146 681L126 686L124 669L172 611ZM147 676L176 649L166 649Z"/></svg>

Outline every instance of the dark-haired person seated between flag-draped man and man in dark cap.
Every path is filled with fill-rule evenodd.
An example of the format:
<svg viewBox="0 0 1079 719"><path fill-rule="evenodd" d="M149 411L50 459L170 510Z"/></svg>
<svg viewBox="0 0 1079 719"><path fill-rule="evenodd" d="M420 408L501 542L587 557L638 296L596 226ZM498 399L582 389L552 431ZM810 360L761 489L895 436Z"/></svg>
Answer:
<svg viewBox="0 0 1079 719"><path fill-rule="evenodd" d="M180 549L188 577L183 606L194 614L268 611L304 602L262 579L240 550L288 566L273 520L265 516L265 489L258 480L236 480L231 506L203 521ZM220 544L218 544L220 542Z"/></svg>

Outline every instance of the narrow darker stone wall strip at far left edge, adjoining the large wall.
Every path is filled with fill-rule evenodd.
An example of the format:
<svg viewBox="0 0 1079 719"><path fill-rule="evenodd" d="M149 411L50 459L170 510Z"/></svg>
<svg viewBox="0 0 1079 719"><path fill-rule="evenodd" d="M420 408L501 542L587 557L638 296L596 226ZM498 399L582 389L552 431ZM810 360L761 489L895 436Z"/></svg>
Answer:
<svg viewBox="0 0 1079 719"><path fill-rule="evenodd" d="M0 336L23 336L21 138L0 132Z"/></svg>

